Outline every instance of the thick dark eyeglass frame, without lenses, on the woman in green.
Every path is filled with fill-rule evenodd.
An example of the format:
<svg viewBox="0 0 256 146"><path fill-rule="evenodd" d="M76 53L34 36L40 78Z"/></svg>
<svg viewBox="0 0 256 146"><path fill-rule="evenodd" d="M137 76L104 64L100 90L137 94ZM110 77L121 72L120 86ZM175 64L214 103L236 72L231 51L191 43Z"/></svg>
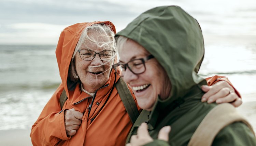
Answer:
<svg viewBox="0 0 256 146"><path fill-rule="evenodd" d="M124 71L126 71L126 69L128 68L133 74L138 75L138 74L142 74L142 73L144 73L144 72L146 71L145 62L146 62L147 60L152 59L152 58L155 58L155 57L154 57L152 54L150 54L150 55L148 55L148 56L146 56L146 57L144 57L144 58L132 59L132 60L128 61L127 63L121 63L121 64L124 65L124 69L125 69ZM130 67L128 66L128 63L129 63L129 62L132 62L132 61L134 61L134 60L141 60L141 61L142 61L143 66L144 66L144 69L145 69L143 72L141 72L141 73L134 73L134 72L130 69ZM115 63L114 65L112 65L112 68L115 70L115 72L116 72L119 76L124 76L124 75L120 75L120 74L117 72L116 67L115 67L116 65L120 66L120 62Z"/></svg>

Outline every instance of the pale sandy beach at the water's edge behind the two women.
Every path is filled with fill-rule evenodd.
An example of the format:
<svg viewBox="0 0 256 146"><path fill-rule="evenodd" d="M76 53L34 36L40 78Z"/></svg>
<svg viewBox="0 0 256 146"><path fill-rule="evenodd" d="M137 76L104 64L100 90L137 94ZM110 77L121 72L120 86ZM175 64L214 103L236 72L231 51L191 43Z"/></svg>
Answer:
<svg viewBox="0 0 256 146"><path fill-rule="evenodd" d="M256 101L250 101L255 94L243 95L244 103L238 107L238 111L244 115L256 131ZM248 101L249 100L249 101ZM1 146L32 146L30 129L0 130Z"/></svg>

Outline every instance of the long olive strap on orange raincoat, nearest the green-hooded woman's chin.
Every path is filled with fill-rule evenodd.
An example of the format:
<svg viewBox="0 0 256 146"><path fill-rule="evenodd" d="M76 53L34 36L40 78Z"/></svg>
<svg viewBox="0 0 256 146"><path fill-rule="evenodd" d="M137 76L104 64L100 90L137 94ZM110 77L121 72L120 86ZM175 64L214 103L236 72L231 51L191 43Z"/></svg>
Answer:
<svg viewBox="0 0 256 146"><path fill-rule="evenodd" d="M115 84L117 92L125 106L125 109L127 113L129 114L129 117L131 119L132 124L135 123L136 119L139 116L139 111L136 106L136 103L134 102L134 99L131 95L131 92L127 86L127 84L124 82L122 78L119 78L119 80Z"/></svg>

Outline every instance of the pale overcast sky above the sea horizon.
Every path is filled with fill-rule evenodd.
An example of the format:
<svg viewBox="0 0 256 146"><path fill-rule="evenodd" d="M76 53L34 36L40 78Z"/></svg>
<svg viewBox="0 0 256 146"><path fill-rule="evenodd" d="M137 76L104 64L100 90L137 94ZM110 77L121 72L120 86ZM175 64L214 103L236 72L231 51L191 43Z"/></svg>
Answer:
<svg viewBox="0 0 256 146"><path fill-rule="evenodd" d="M256 0L0 0L0 44L57 44L79 22L112 21L120 31L144 11L179 5L195 17L207 41L256 40Z"/></svg>

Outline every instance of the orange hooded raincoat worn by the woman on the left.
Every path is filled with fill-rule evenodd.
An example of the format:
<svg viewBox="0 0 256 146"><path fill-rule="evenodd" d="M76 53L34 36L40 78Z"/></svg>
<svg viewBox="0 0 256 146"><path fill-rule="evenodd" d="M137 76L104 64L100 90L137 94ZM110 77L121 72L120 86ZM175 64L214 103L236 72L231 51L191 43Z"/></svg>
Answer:
<svg viewBox="0 0 256 146"><path fill-rule="evenodd" d="M104 21L77 23L65 28L60 34L56 49L56 57L62 83L44 107L38 120L32 126L30 136L34 146L125 145L125 141L132 127L132 123L117 93L117 90L114 87L114 81L116 82L119 79L119 76L115 75L114 70L112 70L110 79L107 81L104 88L97 91L89 117L88 107L90 105L91 98L86 97L90 95L82 92L80 89L80 84L72 83L68 77L71 58L80 35L84 28L95 23L104 23L110 25L112 26L112 30L115 32L115 26L109 21ZM209 84L211 85L215 80L218 80L218 76L208 78L208 80L211 81ZM228 81L228 83L230 82ZM72 90L70 90L71 88ZM108 102L106 102L105 106L100 111L100 108L105 103L106 98L109 96L112 88L113 91ZM59 98L63 89L65 89L68 99L61 110ZM134 101L136 101L134 95L133 98ZM72 108L84 113L84 116L82 123L75 135L67 136L64 123L64 111ZM140 110L138 106L137 108ZM96 115L97 117L93 120L93 122L91 122L91 119Z"/></svg>

